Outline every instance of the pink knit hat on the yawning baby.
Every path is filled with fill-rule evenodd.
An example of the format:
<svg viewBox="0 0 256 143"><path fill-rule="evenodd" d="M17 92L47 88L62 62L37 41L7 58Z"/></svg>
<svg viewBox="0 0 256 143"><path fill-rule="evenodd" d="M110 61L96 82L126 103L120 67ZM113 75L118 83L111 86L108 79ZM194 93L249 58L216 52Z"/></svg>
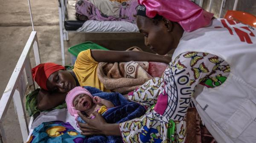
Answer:
<svg viewBox="0 0 256 143"><path fill-rule="evenodd" d="M75 107L73 105L73 100L76 98L77 95L80 95L80 94L87 94L93 100L93 95L90 94L90 92L87 89L84 89L81 86L77 86L77 87L73 88L72 90L70 90L70 92L68 92L68 94L66 96L67 109L68 109L68 112L72 116L75 116L75 117L78 116L77 112L79 112L79 111L75 109Z"/></svg>

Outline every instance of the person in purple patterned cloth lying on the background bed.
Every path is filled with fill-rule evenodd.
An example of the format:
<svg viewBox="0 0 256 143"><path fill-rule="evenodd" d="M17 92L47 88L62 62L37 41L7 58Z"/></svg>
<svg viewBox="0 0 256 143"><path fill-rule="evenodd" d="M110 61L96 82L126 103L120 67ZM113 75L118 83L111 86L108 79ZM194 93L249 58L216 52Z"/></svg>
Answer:
<svg viewBox="0 0 256 143"><path fill-rule="evenodd" d="M76 17L79 20L127 21L136 23L137 0L119 3L107 0L78 0Z"/></svg>

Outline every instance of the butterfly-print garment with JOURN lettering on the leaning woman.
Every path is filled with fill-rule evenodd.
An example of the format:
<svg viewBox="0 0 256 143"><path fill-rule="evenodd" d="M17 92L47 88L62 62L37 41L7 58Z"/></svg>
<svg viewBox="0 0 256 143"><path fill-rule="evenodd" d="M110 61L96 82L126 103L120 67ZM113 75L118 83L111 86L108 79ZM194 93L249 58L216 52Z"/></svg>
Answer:
<svg viewBox="0 0 256 143"><path fill-rule="evenodd" d="M140 118L120 123L125 143L184 143L186 111L192 106L195 87L220 86L230 72L227 62L208 53L186 52L156 77L130 92L128 97L147 112Z"/></svg>

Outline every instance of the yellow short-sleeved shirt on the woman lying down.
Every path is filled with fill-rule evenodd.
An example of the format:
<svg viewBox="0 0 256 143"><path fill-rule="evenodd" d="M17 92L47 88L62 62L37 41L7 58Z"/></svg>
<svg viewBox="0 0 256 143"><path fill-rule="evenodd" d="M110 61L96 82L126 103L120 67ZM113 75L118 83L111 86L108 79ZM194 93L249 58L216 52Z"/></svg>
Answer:
<svg viewBox="0 0 256 143"><path fill-rule="evenodd" d="M91 56L90 49L81 51L77 56L73 71L76 74L80 86L92 86L103 92L111 92L99 81L96 70L98 63Z"/></svg>

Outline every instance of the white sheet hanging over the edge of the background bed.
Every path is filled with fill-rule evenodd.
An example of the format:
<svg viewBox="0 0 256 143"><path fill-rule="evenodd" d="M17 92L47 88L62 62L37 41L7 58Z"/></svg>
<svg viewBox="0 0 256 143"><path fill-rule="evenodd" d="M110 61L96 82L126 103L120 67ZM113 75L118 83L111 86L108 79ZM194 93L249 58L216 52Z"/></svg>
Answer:
<svg viewBox="0 0 256 143"><path fill-rule="evenodd" d="M77 29L79 32L139 32L136 24L127 21L87 20Z"/></svg>

